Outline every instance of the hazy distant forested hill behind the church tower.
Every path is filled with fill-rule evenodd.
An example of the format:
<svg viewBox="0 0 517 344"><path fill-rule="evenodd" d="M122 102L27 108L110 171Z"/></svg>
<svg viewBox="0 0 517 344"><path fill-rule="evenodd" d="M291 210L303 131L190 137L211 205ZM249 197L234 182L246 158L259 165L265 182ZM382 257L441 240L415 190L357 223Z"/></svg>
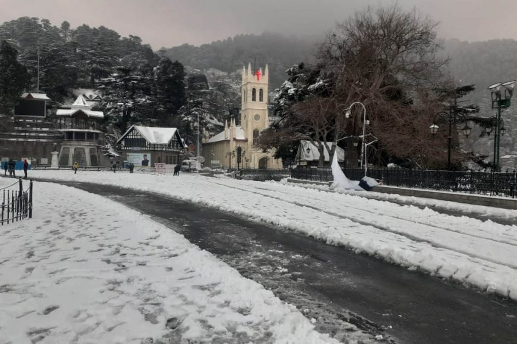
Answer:
<svg viewBox="0 0 517 344"><path fill-rule="evenodd" d="M257 68L267 63L270 89L274 90L286 79L285 71L294 63L313 58L315 46L315 40L264 32L262 35L237 35L200 46L183 44L164 49L163 53L173 61L196 69L215 68L227 73L248 63Z"/></svg>

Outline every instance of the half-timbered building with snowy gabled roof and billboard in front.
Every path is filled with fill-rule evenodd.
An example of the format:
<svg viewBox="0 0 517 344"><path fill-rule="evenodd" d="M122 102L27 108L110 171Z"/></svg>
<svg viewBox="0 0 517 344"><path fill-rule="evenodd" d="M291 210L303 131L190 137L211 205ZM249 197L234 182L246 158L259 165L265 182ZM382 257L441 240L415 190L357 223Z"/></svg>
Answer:
<svg viewBox="0 0 517 344"><path fill-rule="evenodd" d="M117 146L136 167L152 167L157 162L180 164L185 154L177 128L133 125L118 139Z"/></svg>

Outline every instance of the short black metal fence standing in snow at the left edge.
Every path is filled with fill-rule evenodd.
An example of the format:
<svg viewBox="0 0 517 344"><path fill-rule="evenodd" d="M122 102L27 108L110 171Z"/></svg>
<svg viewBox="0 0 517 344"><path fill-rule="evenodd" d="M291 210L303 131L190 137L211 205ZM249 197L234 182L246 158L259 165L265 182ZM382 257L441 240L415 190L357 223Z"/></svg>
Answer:
<svg viewBox="0 0 517 344"><path fill-rule="evenodd" d="M24 190L22 178L2 189L2 218L0 223L11 223L23 219L32 219L33 182Z"/></svg>

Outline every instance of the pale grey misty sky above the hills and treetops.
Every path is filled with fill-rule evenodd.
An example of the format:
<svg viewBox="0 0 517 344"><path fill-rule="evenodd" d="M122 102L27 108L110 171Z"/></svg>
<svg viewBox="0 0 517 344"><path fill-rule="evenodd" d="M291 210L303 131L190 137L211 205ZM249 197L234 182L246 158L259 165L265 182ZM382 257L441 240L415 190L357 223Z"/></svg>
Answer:
<svg viewBox="0 0 517 344"><path fill-rule="evenodd" d="M517 39L516 0L399 0L440 22L442 38ZM0 0L0 23L19 17L59 26L104 25L122 36L140 36L155 50L199 45L263 31L317 37L367 5L391 0Z"/></svg>

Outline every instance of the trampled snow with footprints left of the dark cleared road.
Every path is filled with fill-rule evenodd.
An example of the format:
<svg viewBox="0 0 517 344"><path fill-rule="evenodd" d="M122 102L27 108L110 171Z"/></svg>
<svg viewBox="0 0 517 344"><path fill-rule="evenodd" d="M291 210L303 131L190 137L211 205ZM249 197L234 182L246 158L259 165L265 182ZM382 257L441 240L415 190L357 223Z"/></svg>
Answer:
<svg viewBox="0 0 517 344"><path fill-rule="evenodd" d="M338 342L148 216L62 185L34 191L33 219L0 226L2 344Z"/></svg>

